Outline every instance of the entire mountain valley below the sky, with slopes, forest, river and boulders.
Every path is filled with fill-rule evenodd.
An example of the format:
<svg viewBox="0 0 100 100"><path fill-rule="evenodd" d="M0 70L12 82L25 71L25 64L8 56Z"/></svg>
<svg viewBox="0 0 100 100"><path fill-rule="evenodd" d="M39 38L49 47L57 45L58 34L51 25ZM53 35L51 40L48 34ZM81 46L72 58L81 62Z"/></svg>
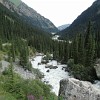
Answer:
<svg viewBox="0 0 100 100"><path fill-rule="evenodd" d="M0 100L99 100L99 24L100 0L58 28L21 0L0 0Z"/></svg>

